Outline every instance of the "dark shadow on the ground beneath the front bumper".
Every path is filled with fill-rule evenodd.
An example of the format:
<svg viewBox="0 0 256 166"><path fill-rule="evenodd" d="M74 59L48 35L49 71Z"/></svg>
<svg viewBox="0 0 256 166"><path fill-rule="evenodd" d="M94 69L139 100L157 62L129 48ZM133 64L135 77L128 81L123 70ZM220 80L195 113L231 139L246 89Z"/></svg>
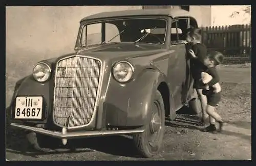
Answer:
<svg viewBox="0 0 256 166"><path fill-rule="evenodd" d="M61 144L51 145L51 148L43 148L44 151L37 151L32 146L28 146L27 141L23 141L25 146L7 146L6 152L22 154L37 158L38 155L81 153L99 151L116 156L140 157L136 152L132 139L124 136L107 136L86 139L69 140L67 146Z"/></svg>

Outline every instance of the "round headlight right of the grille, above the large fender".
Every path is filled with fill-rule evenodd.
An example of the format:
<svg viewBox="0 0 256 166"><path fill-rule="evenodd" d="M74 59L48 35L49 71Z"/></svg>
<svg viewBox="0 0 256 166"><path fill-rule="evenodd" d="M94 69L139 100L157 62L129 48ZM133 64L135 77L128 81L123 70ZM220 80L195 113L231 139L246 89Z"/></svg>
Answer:
<svg viewBox="0 0 256 166"><path fill-rule="evenodd" d="M127 82L132 78L134 67L130 62L119 61L113 67L114 78L118 82Z"/></svg>

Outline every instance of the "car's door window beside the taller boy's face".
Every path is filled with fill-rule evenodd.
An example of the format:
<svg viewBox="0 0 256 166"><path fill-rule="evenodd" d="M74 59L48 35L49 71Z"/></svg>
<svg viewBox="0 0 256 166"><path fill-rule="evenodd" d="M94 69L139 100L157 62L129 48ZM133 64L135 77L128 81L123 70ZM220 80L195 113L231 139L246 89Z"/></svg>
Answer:
<svg viewBox="0 0 256 166"><path fill-rule="evenodd" d="M170 41L172 41L172 44L180 44L186 40L187 28L188 19L178 19L173 21L170 35Z"/></svg>

